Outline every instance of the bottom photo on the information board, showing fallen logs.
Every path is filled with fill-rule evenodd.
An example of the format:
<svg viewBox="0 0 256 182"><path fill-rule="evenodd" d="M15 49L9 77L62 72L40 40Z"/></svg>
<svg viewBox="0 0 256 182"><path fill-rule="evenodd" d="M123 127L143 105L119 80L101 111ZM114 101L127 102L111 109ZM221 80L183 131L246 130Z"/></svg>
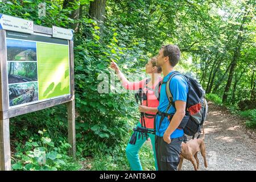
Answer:
<svg viewBox="0 0 256 182"><path fill-rule="evenodd" d="M38 101L38 82L9 85L9 106Z"/></svg>

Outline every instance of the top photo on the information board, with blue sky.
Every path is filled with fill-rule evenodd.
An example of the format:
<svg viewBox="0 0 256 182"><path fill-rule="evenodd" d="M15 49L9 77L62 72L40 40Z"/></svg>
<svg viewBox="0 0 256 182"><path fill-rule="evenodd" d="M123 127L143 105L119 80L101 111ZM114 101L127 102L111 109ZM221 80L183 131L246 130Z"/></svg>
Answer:
<svg viewBox="0 0 256 182"><path fill-rule="evenodd" d="M6 39L7 61L36 61L36 43Z"/></svg>

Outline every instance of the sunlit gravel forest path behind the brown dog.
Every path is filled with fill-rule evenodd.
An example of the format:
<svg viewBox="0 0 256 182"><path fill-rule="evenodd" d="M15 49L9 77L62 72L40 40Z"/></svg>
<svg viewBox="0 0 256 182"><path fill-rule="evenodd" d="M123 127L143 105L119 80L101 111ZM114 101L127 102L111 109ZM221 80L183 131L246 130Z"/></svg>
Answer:
<svg viewBox="0 0 256 182"><path fill-rule="evenodd" d="M256 134L245 129L245 120L227 110L208 103L205 121L205 145L208 168L199 154L200 170L256 170ZM184 160L182 170L193 170L191 162Z"/></svg>

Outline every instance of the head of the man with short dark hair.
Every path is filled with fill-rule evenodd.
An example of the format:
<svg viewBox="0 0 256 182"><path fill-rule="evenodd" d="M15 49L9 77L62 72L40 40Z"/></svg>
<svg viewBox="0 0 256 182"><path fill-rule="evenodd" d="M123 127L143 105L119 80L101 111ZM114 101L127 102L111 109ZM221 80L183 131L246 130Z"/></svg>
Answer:
<svg viewBox="0 0 256 182"><path fill-rule="evenodd" d="M172 67L180 60L180 49L176 45L168 44L163 46L158 53L156 65L163 67L164 64L170 64Z"/></svg>

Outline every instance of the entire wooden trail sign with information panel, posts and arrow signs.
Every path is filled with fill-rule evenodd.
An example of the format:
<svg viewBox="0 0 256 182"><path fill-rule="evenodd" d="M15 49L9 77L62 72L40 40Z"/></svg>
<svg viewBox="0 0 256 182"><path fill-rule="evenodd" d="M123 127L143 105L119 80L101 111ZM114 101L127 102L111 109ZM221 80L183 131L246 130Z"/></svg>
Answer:
<svg viewBox="0 0 256 182"><path fill-rule="evenodd" d="M64 103L75 159L73 31L53 28L0 14L0 170L11 170L9 118Z"/></svg>

